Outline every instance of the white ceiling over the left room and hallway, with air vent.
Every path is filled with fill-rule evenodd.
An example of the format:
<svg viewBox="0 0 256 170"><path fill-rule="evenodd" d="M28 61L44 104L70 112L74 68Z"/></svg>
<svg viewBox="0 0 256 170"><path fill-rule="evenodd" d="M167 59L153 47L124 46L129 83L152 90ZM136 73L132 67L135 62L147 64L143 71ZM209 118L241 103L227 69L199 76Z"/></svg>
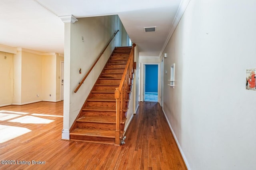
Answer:
<svg viewBox="0 0 256 170"><path fill-rule="evenodd" d="M64 23L76 18L118 14L140 56L158 56L181 0L0 0L0 44L64 53ZM156 32L144 27L156 26Z"/></svg>

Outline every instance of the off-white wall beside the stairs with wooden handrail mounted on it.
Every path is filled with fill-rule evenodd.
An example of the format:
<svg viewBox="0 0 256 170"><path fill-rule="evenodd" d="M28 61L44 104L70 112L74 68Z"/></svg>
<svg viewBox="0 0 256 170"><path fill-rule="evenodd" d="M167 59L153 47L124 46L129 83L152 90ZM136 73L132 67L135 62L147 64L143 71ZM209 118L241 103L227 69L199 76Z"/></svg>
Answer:
<svg viewBox="0 0 256 170"><path fill-rule="evenodd" d="M122 29L120 26L122 25L118 16L78 18L78 21L74 24L65 24L64 79L66 83L64 85L63 129L65 132L76 119L114 47L121 45L121 32L118 32L116 38L112 40L78 92L74 93L74 90L114 32ZM84 42L82 42L82 36L84 37ZM80 68L82 69L82 74L79 74ZM70 84L67 85L67 82L70 82ZM66 94L68 91L69 94ZM62 135L62 138L65 138L65 135Z"/></svg>

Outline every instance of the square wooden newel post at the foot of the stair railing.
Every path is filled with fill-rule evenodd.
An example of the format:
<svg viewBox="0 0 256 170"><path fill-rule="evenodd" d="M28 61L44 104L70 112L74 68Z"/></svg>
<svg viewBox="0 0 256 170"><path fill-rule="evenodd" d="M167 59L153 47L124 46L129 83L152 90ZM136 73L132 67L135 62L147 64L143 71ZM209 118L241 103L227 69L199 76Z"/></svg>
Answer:
<svg viewBox="0 0 256 170"><path fill-rule="evenodd" d="M116 98L116 136L115 145L120 145L120 91L116 88L115 91Z"/></svg>

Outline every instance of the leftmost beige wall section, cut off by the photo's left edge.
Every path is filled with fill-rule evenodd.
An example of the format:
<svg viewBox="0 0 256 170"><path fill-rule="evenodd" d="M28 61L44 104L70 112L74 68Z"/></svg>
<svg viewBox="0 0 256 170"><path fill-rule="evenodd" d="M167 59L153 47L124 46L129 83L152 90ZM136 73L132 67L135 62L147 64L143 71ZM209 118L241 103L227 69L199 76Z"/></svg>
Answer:
<svg viewBox="0 0 256 170"><path fill-rule="evenodd" d="M5 59L6 57L6 59ZM12 103L13 54L0 51L0 107Z"/></svg>

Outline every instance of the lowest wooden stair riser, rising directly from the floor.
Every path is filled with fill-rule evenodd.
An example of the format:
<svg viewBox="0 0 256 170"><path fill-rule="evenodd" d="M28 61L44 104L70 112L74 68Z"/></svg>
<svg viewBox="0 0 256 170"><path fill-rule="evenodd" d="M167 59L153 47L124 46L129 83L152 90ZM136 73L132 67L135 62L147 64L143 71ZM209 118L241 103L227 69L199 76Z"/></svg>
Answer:
<svg viewBox="0 0 256 170"><path fill-rule="evenodd" d="M101 142L101 143L112 143L115 144L115 138L104 138L95 136L81 136L70 134L70 140L83 140L87 142Z"/></svg>

